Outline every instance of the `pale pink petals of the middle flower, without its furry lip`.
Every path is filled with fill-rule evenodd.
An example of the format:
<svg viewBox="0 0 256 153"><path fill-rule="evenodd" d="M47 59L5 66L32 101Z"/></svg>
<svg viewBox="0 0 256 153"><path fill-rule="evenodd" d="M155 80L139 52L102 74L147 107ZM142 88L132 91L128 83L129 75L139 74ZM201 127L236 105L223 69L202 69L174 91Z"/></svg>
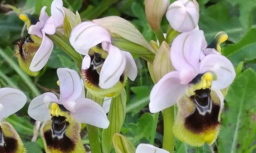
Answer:
<svg viewBox="0 0 256 153"><path fill-rule="evenodd" d="M101 43L102 49L108 53L100 71L100 88L113 87L124 71L131 80L135 80L137 67L131 54L112 45L110 34L102 26L92 21L82 22L72 30L69 41L78 53L86 55L82 62L84 70L90 67L91 58L88 51L93 46Z"/></svg>

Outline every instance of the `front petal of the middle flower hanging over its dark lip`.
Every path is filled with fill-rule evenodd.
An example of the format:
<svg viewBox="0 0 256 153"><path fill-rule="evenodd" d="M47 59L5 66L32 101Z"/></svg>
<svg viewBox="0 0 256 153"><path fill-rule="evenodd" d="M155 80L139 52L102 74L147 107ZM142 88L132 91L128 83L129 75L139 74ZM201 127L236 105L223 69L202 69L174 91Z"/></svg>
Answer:
<svg viewBox="0 0 256 153"><path fill-rule="evenodd" d="M113 87L124 73L125 64L124 54L116 46L110 44L108 56L100 71L99 86L102 89Z"/></svg>

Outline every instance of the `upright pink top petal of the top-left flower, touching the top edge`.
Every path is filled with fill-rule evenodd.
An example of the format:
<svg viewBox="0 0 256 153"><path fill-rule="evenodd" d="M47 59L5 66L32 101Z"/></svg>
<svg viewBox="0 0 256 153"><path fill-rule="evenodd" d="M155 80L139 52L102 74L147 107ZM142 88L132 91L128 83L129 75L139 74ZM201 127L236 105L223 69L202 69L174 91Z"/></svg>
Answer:
<svg viewBox="0 0 256 153"><path fill-rule="evenodd" d="M65 12L62 0L54 0L51 5L51 14L54 19L55 28L63 24Z"/></svg>

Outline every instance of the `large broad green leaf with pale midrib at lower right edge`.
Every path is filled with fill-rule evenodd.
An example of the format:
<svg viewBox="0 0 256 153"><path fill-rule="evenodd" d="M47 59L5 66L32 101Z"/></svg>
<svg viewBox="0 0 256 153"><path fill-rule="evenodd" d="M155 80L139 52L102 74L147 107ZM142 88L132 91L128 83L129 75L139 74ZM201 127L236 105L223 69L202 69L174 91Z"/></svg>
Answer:
<svg viewBox="0 0 256 153"><path fill-rule="evenodd" d="M247 69L237 76L226 96L222 127L218 138L219 152L244 152L256 107L256 74Z"/></svg>

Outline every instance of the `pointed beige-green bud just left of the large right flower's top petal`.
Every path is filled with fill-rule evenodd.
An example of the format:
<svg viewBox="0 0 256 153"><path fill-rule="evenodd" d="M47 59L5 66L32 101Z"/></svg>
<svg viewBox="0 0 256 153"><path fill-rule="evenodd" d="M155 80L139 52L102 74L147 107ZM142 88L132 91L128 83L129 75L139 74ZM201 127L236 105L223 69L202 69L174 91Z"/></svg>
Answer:
<svg viewBox="0 0 256 153"><path fill-rule="evenodd" d="M173 71L174 67L170 60L170 47L163 41L158 51L156 52L155 59L153 61L153 72L155 81L158 82L165 74Z"/></svg>

